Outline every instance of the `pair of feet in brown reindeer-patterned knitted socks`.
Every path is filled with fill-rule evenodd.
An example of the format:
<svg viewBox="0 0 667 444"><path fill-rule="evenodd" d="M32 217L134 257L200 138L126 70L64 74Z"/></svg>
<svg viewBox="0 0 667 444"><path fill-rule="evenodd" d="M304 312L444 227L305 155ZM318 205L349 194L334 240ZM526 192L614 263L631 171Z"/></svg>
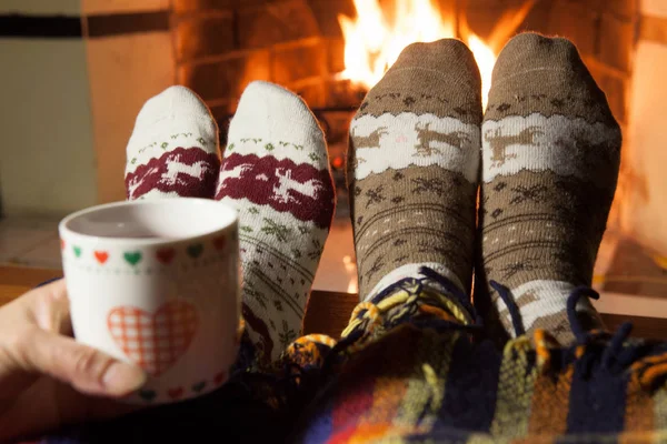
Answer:
<svg viewBox="0 0 667 444"><path fill-rule="evenodd" d="M569 343L567 299L591 283L616 190L618 124L564 39L515 37L484 115L480 90L470 51L441 40L408 47L368 93L348 171L360 294L424 265L468 294L475 269L487 320L515 331L500 291L519 331ZM577 309L599 323L588 300Z"/></svg>

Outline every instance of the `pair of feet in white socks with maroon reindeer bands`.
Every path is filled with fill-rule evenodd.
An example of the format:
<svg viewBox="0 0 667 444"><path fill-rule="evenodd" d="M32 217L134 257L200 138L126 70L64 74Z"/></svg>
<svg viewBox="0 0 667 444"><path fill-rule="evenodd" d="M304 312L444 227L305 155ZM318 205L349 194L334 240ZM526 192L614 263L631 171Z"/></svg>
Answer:
<svg viewBox="0 0 667 444"><path fill-rule="evenodd" d="M201 100L171 87L146 102L127 147L129 200L206 198L239 212L242 315L258 362L298 337L335 209L323 133L293 93L252 82L221 155Z"/></svg>

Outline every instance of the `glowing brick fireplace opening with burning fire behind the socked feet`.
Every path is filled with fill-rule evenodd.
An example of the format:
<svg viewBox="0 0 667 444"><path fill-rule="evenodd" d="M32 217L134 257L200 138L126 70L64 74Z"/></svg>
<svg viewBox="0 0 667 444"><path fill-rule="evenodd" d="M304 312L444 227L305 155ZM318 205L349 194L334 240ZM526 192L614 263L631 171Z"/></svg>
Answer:
<svg viewBox="0 0 667 444"><path fill-rule="evenodd" d="M607 94L625 131L640 18L637 3L636 0L176 0L172 38L177 82L195 90L208 103L222 139L238 98L252 80L282 84L306 100L326 132L338 196L335 226L315 286L356 292L345 185L348 128L368 89L400 50L414 41L440 38L465 41L480 67L486 93L496 57L514 34L536 31L568 38ZM226 141L221 142L225 145ZM624 145L624 157L628 151L629 147ZM608 238L620 231L618 206L626 193L626 182L633 176L625 162L621 170ZM605 270L610 266L607 250L600 250L600 268Z"/></svg>

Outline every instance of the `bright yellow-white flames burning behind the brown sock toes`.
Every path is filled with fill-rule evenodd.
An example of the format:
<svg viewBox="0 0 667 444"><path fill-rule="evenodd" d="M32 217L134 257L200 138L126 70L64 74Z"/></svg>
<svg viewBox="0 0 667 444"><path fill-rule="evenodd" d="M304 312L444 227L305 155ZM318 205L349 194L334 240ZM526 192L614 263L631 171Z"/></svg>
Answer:
<svg viewBox="0 0 667 444"><path fill-rule="evenodd" d="M468 43L479 65L485 107L497 54L535 2L527 0L518 10L506 11L487 42L469 30L465 17L456 18L459 38ZM345 71L340 78L365 89L372 88L410 43L457 37L455 19L444 19L430 0L394 0L394 11L384 10L379 0L355 0L355 7L356 19L338 16L345 37ZM392 20L388 20L388 12Z"/></svg>

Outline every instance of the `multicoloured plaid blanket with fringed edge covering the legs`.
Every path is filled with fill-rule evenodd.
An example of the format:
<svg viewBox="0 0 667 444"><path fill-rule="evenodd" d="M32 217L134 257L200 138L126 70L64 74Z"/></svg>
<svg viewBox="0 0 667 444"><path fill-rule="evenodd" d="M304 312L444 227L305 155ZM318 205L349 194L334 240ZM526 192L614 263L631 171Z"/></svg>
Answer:
<svg viewBox="0 0 667 444"><path fill-rule="evenodd" d="M334 340L298 339L259 371L245 349L212 395L47 442L198 438L293 443L667 443L667 342L546 331L498 347L467 297L428 269L352 313ZM210 436L206 436L210 435ZM116 441L115 441L116 440Z"/></svg>

